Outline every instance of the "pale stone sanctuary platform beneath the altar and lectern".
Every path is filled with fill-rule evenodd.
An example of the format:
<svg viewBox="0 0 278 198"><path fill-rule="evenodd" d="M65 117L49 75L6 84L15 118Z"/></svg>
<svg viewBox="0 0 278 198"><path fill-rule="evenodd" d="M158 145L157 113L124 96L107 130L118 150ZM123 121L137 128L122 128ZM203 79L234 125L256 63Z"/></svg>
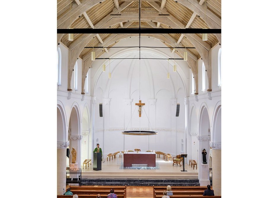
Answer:
<svg viewBox="0 0 278 198"><path fill-rule="evenodd" d="M198 179L198 169L193 170L193 167L185 164L187 172L181 172L183 166L174 165L173 161L167 161L163 157L156 156L156 167L148 169L148 167L124 168L123 157L117 156L111 161L106 160L106 155L103 156L102 170L95 171L90 165L87 169L82 168L82 179L86 178L126 178L126 179ZM136 165L135 165L136 166ZM199 168L199 166L198 166Z"/></svg>

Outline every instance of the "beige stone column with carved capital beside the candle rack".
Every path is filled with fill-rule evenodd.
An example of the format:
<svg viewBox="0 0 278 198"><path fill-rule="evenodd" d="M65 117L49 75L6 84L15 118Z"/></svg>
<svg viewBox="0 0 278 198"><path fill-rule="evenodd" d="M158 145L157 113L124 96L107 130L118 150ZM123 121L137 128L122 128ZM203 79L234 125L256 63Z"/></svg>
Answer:
<svg viewBox="0 0 278 198"><path fill-rule="evenodd" d="M66 188L66 158L69 141L57 142L57 195Z"/></svg>

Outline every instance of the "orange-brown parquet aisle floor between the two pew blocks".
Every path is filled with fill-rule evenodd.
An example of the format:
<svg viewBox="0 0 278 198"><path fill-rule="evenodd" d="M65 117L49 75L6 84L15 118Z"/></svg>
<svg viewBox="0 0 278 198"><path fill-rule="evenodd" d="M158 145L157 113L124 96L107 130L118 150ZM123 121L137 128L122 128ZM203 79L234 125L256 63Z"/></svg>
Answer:
<svg viewBox="0 0 278 198"><path fill-rule="evenodd" d="M127 198L152 198L152 186L127 186Z"/></svg>

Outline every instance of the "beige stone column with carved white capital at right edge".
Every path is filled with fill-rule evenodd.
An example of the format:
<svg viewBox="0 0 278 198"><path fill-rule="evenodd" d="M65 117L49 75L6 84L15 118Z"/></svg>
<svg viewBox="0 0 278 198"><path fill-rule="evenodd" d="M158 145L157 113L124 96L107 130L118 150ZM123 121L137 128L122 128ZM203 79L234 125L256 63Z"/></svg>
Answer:
<svg viewBox="0 0 278 198"><path fill-rule="evenodd" d="M212 148L212 177L214 195L221 196L221 143L210 143Z"/></svg>

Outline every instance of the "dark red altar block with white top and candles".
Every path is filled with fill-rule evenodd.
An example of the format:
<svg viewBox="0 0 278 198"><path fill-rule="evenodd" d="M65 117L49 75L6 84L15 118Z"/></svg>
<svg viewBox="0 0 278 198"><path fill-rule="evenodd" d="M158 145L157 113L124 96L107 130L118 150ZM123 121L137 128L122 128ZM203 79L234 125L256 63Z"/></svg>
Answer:
<svg viewBox="0 0 278 198"><path fill-rule="evenodd" d="M155 167L155 155L151 152L124 153L124 167L131 167L132 164L146 164L148 167Z"/></svg>

